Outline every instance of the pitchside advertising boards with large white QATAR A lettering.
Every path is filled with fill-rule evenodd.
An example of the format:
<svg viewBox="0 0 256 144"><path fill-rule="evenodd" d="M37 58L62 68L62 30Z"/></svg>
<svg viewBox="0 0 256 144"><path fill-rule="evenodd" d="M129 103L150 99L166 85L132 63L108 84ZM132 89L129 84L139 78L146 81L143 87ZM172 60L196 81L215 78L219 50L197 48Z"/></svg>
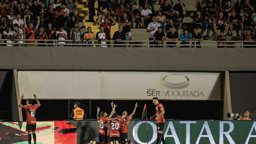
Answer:
<svg viewBox="0 0 256 144"><path fill-rule="evenodd" d="M98 141L96 120L37 122L38 144L88 144ZM156 143L156 121L148 121L148 144ZM255 121L168 121L163 135L166 144L256 144ZM0 143L27 144L26 122L0 123ZM130 121L128 140L147 144L146 122ZM33 139L32 139L33 143Z"/></svg>

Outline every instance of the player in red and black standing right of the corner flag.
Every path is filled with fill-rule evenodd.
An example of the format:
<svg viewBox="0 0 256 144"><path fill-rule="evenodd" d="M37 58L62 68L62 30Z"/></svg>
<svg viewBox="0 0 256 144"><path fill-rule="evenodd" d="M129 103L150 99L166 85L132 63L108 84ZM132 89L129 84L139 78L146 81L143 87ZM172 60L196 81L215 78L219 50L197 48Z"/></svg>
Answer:
<svg viewBox="0 0 256 144"><path fill-rule="evenodd" d="M157 139L156 139L156 144L159 144L160 138L162 140L162 143L165 144L164 142L164 135L163 135L163 129L164 129L164 106L159 103L158 98L154 97L152 98L154 105L156 105L156 114L152 117L150 117L150 120L153 118L156 118L156 126L157 126Z"/></svg>

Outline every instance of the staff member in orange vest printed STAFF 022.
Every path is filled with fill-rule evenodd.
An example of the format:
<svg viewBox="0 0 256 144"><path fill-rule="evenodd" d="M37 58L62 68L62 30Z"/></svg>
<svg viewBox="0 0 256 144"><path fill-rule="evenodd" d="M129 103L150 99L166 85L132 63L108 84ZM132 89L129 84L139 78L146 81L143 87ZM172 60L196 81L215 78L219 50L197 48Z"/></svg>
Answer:
<svg viewBox="0 0 256 144"><path fill-rule="evenodd" d="M80 108L80 102L74 103L74 110L70 114L70 120L84 120L86 119L86 114L82 108Z"/></svg>

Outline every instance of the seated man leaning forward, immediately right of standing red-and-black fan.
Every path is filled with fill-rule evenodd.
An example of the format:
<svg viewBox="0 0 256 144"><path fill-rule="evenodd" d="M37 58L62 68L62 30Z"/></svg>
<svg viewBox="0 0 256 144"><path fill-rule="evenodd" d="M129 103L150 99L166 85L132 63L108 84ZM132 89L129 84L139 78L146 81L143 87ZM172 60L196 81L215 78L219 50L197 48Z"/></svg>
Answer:
<svg viewBox="0 0 256 144"><path fill-rule="evenodd" d="M217 28L218 28L220 30L225 30L228 36L228 22L225 16L223 16L222 12L219 12L219 17L215 18L212 23L213 23L214 35L217 36Z"/></svg>

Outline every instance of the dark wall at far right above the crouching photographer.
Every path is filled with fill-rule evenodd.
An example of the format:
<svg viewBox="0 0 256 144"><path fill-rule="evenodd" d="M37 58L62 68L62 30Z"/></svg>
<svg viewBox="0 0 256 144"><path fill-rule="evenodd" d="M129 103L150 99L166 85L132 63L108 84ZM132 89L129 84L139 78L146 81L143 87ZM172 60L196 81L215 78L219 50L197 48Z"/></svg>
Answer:
<svg viewBox="0 0 256 144"><path fill-rule="evenodd" d="M251 112L251 119L256 119L256 73L230 72L230 93L233 112L243 114Z"/></svg>

